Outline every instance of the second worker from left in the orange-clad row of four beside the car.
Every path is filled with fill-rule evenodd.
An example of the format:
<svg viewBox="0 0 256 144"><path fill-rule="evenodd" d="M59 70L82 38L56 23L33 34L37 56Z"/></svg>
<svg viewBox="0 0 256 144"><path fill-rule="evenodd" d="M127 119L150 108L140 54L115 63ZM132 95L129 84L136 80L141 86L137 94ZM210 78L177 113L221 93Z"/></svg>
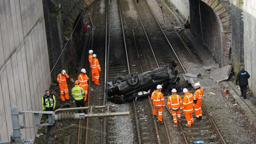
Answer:
<svg viewBox="0 0 256 144"><path fill-rule="evenodd" d="M179 122L181 122L180 106L182 106L182 99L178 94L176 94L176 92L177 92L176 89L172 89L172 95L168 97L167 105L170 111L172 112L174 127L178 128L177 116L178 116Z"/></svg>

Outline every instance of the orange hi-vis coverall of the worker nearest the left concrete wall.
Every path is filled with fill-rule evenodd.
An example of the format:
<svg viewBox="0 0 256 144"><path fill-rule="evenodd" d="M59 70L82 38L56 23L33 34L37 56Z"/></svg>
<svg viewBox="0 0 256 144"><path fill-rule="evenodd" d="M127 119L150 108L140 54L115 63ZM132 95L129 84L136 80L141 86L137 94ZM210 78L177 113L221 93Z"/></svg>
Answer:
<svg viewBox="0 0 256 144"><path fill-rule="evenodd" d="M60 98L64 102L65 99L68 100L68 84L66 81L66 78L69 78L68 74L63 75L62 73L58 74L57 77L57 82L59 83L60 86ZM64 92L65 92L65 98L64 98Z"/></svg>

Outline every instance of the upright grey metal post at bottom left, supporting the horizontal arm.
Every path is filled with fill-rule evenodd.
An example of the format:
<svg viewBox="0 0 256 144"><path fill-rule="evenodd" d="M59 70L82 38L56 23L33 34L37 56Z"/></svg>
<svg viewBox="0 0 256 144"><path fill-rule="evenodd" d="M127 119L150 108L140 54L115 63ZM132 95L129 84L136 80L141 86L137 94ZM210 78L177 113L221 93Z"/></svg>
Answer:
<svg viewBox="0 0 256 144"><path fill-rule="evenodd" d="M12 130L14 142L22 142L20 134L20 125L19 125L19 116L18 108L11 108L11 117L12 117Z"/></svg>

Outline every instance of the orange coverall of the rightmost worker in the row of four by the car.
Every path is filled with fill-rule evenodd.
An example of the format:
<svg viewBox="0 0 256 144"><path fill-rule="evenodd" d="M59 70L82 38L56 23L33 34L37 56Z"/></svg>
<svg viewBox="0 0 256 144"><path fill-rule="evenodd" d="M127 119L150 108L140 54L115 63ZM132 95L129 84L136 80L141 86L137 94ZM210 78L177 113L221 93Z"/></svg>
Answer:
<svg viewBox="0 0 256 144"><path fill-rule="evenodd" d="M203 98L204 90L202 88L196 88L196 92L194 94L194 109L196 113L196 117L202 116L201 104Z"/></svg>

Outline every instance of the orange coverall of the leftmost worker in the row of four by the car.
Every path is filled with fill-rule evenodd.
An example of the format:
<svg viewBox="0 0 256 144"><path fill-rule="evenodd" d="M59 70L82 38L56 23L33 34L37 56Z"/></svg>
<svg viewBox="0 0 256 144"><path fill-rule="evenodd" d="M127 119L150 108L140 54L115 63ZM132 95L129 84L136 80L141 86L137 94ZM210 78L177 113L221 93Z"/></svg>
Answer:
<svg viewBox="0 0 256 144"><path fill-rule="evenodd" d="M162 122L162 111L165 106L164 95L159 90L156 90L151 94L151 101L153 102L154 105L154 116L157 114L158 110L158 120Z"/></svg>

